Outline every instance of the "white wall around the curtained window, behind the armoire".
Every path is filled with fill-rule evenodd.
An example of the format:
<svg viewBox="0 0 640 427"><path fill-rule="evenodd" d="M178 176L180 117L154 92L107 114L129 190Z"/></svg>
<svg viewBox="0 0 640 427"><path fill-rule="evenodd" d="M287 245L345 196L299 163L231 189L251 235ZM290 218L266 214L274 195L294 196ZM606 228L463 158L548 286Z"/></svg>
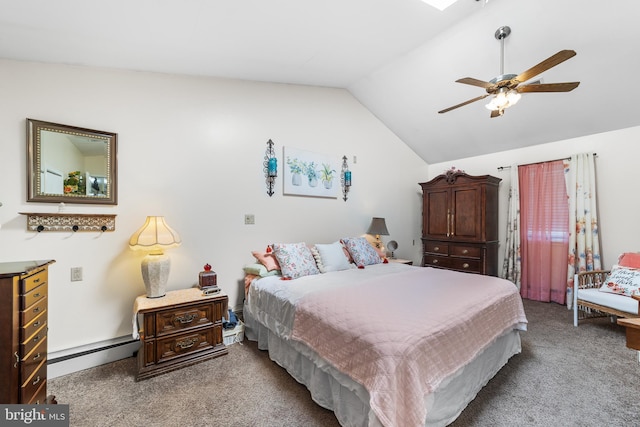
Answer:
<svg viewBox="0 0 640 427"><path fill-rule="evenodd" d="M432 164L429 165L429 177L433 178L455 166L471 175L489 174L502 178L499 217L499 270L502 271L510 178L509 169L499 171L497 168L561 159L574 153L597 153L596 186L602 262L604 268L610 268L622 252L640 251L640 230L635 226L637 213L640 211L640 197L637 191L640 159L638 140L640 127L632 127L519 150Z"/></svg>

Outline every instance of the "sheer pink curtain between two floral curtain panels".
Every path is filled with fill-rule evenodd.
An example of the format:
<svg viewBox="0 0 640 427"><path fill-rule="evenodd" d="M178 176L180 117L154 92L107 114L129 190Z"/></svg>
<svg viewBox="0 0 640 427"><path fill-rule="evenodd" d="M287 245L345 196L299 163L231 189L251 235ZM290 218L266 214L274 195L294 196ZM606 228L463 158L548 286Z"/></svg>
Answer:
<svg viewBox="0 0 640 427"><path fill-rule="evenodd" d="M565 303L569 205L562 160L518 167L523 298Z"/></svg>

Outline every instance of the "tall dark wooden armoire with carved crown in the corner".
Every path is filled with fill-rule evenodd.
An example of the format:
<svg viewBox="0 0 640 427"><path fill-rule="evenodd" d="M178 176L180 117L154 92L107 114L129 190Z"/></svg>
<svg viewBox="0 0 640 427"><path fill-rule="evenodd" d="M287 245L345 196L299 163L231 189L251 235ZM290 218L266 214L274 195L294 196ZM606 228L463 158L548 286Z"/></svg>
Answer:
<svg viewBox="0 0 640 427"><path fill-rule="evenodd" d="M422 265L498 275L498 185L448 170L422 187Z"/></svg>

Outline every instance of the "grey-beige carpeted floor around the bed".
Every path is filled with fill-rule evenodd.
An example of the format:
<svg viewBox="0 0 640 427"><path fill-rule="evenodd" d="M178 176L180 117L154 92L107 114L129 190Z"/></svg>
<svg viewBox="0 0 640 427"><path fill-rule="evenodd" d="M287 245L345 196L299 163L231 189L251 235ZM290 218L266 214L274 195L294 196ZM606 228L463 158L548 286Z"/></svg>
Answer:
<svg viewBox="0 0 640 427"><path fill-rule="evenodd" d="M522 353L452 424L465 426L638 426L640 364L624 329L607 319L574 328L571 312L524 301ZM71 426L333 427L331 411L253 342L229 354L135 382L128 358L49 380L70 404Z"/></svg>

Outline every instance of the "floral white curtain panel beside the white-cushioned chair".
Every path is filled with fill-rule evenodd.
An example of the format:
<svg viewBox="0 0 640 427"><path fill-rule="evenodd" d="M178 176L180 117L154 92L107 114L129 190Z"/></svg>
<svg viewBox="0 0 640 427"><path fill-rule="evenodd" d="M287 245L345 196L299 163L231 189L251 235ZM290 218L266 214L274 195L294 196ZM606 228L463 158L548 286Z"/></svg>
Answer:
<svg viewBox="0 0 640 427"><path fill-rule="evenodd" d="M569 198L569 259L567 293L573 292L573 276L581 271L602 269L596 203L595 158L580 153L565 161ZM567 298L571 309L572 299Z"/></svg>

